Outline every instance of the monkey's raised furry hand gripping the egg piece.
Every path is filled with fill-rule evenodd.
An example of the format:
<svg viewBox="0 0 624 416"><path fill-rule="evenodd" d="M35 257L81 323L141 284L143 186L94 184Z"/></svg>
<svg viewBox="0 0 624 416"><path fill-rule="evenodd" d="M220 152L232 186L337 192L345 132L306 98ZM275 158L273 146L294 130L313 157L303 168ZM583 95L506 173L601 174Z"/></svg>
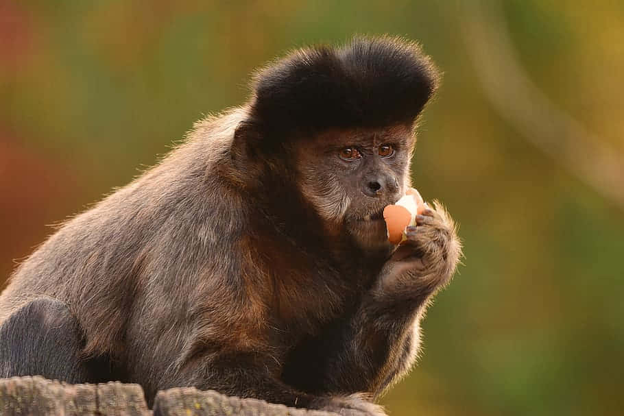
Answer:
<svg viewBox="0 0 624 416"><path fill-rule="evenodd" d="M376 295L424 302L448 283L461 256L455 223L438 201L416 216L406 229L407 241L387 260Z"/></svg>

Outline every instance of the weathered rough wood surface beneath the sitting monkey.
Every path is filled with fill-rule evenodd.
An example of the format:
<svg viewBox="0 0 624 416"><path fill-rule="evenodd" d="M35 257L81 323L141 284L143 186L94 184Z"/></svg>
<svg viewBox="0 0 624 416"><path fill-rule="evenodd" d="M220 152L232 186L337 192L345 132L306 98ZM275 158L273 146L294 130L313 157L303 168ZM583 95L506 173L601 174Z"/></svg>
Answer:
<svg viewBox="0 0 624 416"><path fill-rule="evenodd" d="M0 380L0 416L335 416L192 387L159 391L154 412L139 384L65 384L43 377Z"/></svg>

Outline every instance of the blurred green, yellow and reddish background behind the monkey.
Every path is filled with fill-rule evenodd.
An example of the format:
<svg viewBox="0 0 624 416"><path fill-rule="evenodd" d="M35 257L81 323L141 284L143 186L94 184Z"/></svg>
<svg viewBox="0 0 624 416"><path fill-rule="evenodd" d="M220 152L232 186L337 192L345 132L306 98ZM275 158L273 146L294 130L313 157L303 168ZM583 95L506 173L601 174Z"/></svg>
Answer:
<svg viewBox="0 0 624 416"><path fill-rule="evenodd" d="M466 245L389 413L624 414L622 1L0 0L0 287L256 66L354 33L444 71L414 184Z"/></svg>

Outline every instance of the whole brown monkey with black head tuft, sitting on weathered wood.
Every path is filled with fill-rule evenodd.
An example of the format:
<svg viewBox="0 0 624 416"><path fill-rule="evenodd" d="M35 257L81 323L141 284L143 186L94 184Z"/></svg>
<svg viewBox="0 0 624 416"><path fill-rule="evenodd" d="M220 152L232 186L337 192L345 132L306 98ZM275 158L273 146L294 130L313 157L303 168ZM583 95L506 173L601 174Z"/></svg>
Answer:
<svg viewBox="0 0 624 416"><path fill-rule="evenodd" d="M413 365L461 256L439 202L398 247L382 215L411 186L439 72L416 42L355 36L250 84L16 268L0 377L136 382L149 406L188 386L385 415L374 400Z"/></svg>

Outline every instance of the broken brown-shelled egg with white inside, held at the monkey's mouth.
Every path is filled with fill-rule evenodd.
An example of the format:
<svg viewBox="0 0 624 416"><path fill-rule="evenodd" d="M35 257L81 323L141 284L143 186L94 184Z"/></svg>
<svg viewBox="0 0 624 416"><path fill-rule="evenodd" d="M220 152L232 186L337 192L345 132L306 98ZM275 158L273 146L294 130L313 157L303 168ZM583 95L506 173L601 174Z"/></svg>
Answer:
<svg viewBox="0 0 624 416"><path fill-rule="evenodd" d="M416 215L420 215L424 208L424 201L414 188L409 188L396 204L383 208L388 241L394 245L406 241L405 228L416 225Z"/></svg>

